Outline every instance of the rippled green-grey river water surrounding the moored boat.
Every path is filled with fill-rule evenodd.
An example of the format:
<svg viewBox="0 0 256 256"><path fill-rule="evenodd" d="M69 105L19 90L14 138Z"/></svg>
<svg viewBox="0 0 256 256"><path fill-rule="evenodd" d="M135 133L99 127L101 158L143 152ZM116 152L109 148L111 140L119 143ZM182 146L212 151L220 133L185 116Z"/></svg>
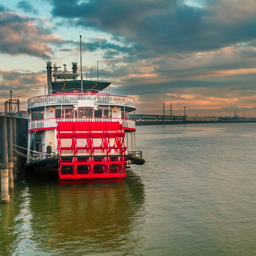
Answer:
<svg viewBox="0 0 256 256"><path fill-rule="evenodd" d="M20 175L0 255L256 255L256 124L137 127L125 182Z"/></svg>

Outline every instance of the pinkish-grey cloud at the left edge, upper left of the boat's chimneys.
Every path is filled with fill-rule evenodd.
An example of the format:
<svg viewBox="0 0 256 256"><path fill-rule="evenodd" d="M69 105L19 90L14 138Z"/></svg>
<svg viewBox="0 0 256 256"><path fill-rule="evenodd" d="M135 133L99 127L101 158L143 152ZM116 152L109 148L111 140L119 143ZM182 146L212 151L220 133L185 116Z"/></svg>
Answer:
<svg viewBox="0 0 256 256"><path fill-rule="evenodd" d="M44 28L42 23L42 20L14 13L0 5L0 53L42 59L53 56L50 45L62 44L64 40Z"/></svg>

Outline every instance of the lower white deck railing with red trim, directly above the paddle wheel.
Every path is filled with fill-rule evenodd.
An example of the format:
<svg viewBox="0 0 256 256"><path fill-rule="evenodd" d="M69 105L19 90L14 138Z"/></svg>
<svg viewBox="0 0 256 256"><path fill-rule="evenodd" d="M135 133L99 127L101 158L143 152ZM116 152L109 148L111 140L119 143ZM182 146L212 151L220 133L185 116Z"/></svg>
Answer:
<svg viewBox="0 0 256 256"><path fill-rule="evenodd" d="M56 128L58 122L119 122L125 128L135 128L135 121L121 118L102 118L102 117L66 117L38 119L28 122L28 129Z"/></svg>

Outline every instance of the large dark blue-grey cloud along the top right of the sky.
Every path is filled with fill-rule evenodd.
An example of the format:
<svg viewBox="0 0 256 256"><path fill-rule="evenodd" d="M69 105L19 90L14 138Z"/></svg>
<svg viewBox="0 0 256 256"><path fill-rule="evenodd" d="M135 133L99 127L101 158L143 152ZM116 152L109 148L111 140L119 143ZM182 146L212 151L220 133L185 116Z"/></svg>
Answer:
<svg viewBox="0 0 256 256"><path fill-rule="evenodd" d="M53 16L136 43L146 50L144 58L215 50L256 38L256 17L238 0L232 6L222 0L205 1L202 7L186 5L182 0L49 2ZM256 8L254 1L250 3ZM225 19L231 22L222 22Z"/></svg>

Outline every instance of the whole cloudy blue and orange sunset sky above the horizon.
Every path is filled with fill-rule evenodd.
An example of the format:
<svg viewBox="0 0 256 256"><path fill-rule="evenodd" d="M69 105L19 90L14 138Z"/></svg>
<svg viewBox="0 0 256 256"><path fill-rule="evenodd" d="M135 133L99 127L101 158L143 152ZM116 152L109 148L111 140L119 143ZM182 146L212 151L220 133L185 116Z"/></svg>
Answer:
<svg viewBox="0 0 256 256"><path fill-rule="evenodd" d="M256 0L1 0L0 111L78 62L137 113L256 117ZM92 72L91 72L92 70Z"/></svg>

